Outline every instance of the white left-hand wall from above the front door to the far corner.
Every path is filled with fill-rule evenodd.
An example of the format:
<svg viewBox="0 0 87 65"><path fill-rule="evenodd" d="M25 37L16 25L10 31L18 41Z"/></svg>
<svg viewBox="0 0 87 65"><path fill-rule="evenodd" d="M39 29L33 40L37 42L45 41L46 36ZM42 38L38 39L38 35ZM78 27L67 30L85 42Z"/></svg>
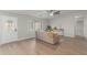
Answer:
<svg viewBox="0 0 87 65"><path fill-rule="evenodd" d="M0 11L0 15L10 15L10 17L18 18L18 39L20 39L20 40L30 39L30 37L35 36L34 35L35 32L30 32L28 30L30 21L43 21L43 22L45 22L45 20L42 20L42 19L37 19L37 18L29 17L29 15L22 15L22 14L4 13L1 11Z"/></svg>

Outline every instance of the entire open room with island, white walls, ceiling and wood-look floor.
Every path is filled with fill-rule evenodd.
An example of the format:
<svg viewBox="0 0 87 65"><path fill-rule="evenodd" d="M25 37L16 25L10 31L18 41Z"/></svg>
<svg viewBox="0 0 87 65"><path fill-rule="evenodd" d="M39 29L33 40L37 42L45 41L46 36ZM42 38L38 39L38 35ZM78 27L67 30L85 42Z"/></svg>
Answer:
<svg viewBox="0 0 87 65"><path fill-rule="evenodd" d="M0 55L87 55L87 10L1 10Z"/></svg>

